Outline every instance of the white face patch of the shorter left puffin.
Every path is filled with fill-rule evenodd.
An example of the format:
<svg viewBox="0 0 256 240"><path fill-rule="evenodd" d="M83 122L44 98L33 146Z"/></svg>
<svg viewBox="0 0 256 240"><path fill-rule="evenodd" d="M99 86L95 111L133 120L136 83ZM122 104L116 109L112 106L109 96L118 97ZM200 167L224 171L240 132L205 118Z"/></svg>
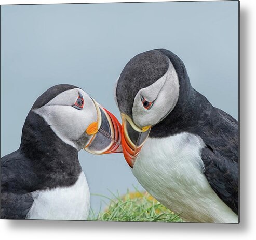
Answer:
<svg viewBox="0 0 256 240"><path fill-rule="evenodd" d="M79 94L81 94L84 99L84 107L82 110L72 107ZM45 119L53 132L55 132L63 142L75 147L78 151L85 147L92 136L85 138L84 142L81 142L79 139L83 137L87 127L92 122L98 121L95 103L86 92L79 88L74 88L59 94L45 104L45 106L34 110L34 112Z"/></svg>

